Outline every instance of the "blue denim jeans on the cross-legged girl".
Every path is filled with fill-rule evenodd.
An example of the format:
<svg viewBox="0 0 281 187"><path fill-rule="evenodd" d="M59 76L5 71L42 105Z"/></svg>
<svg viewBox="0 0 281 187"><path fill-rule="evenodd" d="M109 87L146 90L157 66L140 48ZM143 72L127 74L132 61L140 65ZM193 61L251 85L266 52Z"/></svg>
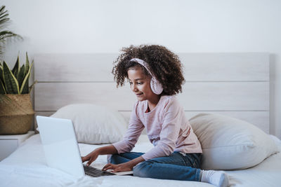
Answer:
<svg viewBox="0 0 281 187"><path fill-rule="evenodd" d="M121 164L138 158L144 153L121 153L112 155L112 164ZM169 156L152 158L133 167L133 176L153 179L173 179L181 181L200 181L201 153L180 153L175 151Z"/></svg>

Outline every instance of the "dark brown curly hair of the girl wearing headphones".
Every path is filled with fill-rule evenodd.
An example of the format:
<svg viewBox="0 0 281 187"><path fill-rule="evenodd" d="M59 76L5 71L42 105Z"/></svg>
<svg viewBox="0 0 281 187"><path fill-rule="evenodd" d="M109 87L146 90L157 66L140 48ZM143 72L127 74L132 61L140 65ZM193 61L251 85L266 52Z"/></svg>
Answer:
<svg viewBox="0 0 281 187"><path fill-rule="evenodd" d="M122 48L122 53L113 62L115 66L112 74L117 83L117 87L124 85L125 78L128 78L128 70L131 67L142 67L141 64L130 62L132 58L139 58L148 64L148 69L155 76L157 81L162 84L162 95L176 95L182 92L181 85L185 83L183 77L183 64L178 55L171 52L164 46L141 45ZM143 73L149 75L143 67Z"/></svg>

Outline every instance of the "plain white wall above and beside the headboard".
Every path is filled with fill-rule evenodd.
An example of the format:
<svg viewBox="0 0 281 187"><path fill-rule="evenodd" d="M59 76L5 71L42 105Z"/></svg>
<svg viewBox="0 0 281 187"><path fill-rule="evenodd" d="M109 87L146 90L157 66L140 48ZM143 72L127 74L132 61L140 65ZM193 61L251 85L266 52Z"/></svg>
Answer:
<svg viewBox="0 0 281 187"><path fill-rule="evenodd" d="M270 53L270 133L281 138L281 1L2 0L24 36L6 49L34 53L117 53L156 43L176 53Z"/></svg>

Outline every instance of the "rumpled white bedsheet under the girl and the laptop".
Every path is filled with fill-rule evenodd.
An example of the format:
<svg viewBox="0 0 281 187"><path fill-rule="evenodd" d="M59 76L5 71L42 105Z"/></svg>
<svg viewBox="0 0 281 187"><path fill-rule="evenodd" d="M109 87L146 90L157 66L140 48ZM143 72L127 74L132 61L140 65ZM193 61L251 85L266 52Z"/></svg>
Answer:
<svg viewBox="0 0 281 187"><path fill-rule="evenodd" d="M281 150L281 144L276 140ZM97 145L79 144L81 155L93 151ZM146 135L141 135L133 151L145 152L152 148ZM65 155L67 156L67 155ZM254 156L254 155L253 155ZM106 163L106 155L100 155L93 166L100 167ZM281 186L281 153L275 153L256 167L237 171L228 171L231 186ZM174 181L146 179L136 176L103 176L92 178L73 176L46 165L39 134L36 134L20 146L8 158L0 162L0 186L212 186L195 181Z"/></svg>

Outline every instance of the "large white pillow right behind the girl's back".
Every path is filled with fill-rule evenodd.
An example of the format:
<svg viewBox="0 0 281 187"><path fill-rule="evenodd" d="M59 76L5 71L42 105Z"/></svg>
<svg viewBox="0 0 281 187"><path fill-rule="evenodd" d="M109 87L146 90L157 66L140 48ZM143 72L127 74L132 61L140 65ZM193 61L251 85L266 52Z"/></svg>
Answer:
<svg viewBox="0 0 281 187"><path fill-rule="evenodd" d="M190 125L202 146L202 169L245 169L277 151L268 134L236 118L200 113Z"/></svg>

